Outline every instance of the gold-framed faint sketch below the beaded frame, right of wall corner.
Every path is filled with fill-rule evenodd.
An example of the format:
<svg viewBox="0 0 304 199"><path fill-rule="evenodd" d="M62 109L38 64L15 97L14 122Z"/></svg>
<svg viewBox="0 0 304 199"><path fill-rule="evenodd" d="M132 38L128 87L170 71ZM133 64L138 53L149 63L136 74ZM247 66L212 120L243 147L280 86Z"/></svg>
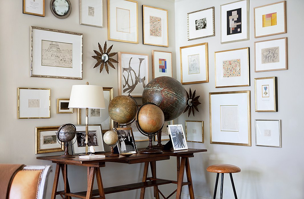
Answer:
<svg viewBox="0 0 304 199"><path fill-rule="evenodd" d="M181 84L209 82L208 43L180 47Z"/></svg>

